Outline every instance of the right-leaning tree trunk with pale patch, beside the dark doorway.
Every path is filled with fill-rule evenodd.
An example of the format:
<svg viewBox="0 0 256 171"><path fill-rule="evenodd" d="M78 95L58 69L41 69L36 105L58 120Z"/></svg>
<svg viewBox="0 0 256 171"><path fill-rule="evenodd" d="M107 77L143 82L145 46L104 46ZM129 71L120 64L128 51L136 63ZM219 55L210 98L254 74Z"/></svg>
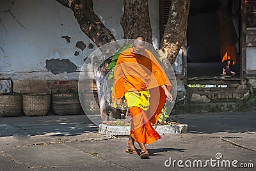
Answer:
<svg viewBox="0 0 256 171"><path fill-rule="evenodd" d="M179 53L186 38L190 0L172 0L164 35L160 43L162 56L171 64ZM163 58L164 59L164 58Z"/></svg>

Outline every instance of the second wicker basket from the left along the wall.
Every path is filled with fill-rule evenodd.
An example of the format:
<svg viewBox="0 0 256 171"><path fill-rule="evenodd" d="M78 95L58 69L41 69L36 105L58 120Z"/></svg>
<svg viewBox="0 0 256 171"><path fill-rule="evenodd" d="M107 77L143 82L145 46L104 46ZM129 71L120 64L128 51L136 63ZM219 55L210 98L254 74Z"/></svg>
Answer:
<svg viewBox="0 0 256 171"><path fill-rule="evenodd" d="M29 93L23 94L23 112L25 115L46 115L51 105L51 94Z"/></svg>

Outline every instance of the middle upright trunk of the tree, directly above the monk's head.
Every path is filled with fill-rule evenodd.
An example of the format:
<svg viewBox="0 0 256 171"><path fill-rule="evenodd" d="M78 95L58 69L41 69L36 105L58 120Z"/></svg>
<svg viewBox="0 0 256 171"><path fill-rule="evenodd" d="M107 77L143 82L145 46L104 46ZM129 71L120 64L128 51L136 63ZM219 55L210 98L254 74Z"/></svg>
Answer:
<svg viewBox="0 0 256 171"><path fill-rule="evenodd" d="M143 36L145 41L152 43L147 0L124 0L124 14L120 24L124 30L125 39Z"/></svg>

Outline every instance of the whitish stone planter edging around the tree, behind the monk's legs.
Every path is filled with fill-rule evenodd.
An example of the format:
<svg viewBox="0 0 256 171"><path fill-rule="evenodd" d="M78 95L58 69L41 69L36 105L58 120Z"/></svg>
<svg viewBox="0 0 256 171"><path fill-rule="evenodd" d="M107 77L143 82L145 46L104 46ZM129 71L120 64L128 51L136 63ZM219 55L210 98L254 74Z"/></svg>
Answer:
<svg viewBox="0 0 256 171"><path fill-rule="evenodd" d="M187 124L169 124L161 126L153 126L153 128L160 134L169 134L169 133L188 133ZM130 126L111 126L107 124L99 125L99 134L104 135L129 135Z"/></svg>

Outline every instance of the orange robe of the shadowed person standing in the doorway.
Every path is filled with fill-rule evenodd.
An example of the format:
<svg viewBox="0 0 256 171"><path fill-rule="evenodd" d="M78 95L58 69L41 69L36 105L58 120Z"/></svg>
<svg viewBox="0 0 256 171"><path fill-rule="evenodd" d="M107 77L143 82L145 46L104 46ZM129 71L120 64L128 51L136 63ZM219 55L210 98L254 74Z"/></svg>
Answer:
<svg viewBox="0 0 256 171"><path fill-rule="evenodd" d="M230 11L228 8L221 8L219 15L221 20L225 22L222 25L220 24L221 63L224 63L227 60L231 60L232 64L236 64L236 42L238 38L233 21L230 19L233 15L232 11Z"/></svg>

